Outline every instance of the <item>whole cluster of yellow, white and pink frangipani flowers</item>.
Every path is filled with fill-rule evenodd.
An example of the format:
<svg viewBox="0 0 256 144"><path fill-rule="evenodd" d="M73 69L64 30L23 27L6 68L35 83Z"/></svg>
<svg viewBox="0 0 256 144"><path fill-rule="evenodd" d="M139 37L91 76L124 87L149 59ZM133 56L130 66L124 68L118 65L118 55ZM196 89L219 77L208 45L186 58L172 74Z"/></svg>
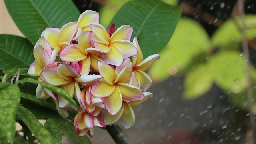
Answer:
<svg viewBox="0 0 256 144"><path fill-rule="evenodd" d="M120 122L130 128L135 122L132 108L152 93L146 92L152 80L144 71L158 60L154 54L143 60L133 29L129 25L108 30L99 24L99 14L87 10L78 22L61 29L46 28L34 47L35 61L28 74L66 91L78 104L74 127L78 136L94 134L94 126ZM132 61L129 57L132 56ZM59 58L61 60L56 61ZM38 85L36 96L52 98L59 114L67 118L76 110L66 99Z"/></svg>

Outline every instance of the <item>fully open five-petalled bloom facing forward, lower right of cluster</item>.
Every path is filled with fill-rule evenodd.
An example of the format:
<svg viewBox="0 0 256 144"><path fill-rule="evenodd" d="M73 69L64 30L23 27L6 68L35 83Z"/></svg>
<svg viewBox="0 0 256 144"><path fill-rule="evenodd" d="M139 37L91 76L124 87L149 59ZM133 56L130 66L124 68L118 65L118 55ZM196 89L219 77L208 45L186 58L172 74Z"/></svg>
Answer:
<svg viewBox="0 0 256 144"><path fill-rule="evenodd" d="M103 78L92 86L91 93L97 98L105 98L104 106L110 114L114 115L120 111L123 100L143 100L142 91L128 84L132 74L132 62L129 58L116 68L99 61L98 68Z"/></svg>

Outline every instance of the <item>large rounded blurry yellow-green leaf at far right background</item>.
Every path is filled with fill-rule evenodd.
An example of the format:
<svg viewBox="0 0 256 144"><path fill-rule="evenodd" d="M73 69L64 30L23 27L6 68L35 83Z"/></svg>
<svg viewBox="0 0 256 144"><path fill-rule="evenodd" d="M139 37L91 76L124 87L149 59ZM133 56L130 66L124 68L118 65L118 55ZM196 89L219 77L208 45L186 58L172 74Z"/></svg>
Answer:
<svg viewBox="0 0 256 144"><path fill-rule="evenodd" d="M209 59L209 70L220 88L239 93L247 88L244 57L238 51L222 51Z"/></svg>

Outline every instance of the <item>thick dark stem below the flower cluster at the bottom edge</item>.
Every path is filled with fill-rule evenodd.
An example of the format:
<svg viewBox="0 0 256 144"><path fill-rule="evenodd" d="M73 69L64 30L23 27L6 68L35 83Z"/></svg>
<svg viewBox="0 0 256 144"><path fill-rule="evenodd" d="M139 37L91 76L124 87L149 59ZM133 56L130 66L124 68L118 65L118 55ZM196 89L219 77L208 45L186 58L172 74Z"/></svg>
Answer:
<svg viewBox="0 0 256 144"><path fill-rule="evenodd" d="M132 144L128 136L124 133L122 128L118 124L113 124L112 126L106 126L106 130L116 142L116 144Z"/></svg>

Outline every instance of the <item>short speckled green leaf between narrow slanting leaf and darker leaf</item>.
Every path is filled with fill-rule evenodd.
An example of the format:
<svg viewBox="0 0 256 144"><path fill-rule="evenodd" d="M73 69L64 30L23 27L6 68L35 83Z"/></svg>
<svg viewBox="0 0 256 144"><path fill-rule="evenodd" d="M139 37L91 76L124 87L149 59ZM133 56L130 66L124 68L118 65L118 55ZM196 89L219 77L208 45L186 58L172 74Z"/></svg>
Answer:
<svg viewBox="0 0 256 144"><path fill-rule="evenodd" d="M44 128L46 128L54 138L54 144L62 144L62 134L52 119L46 120Z"/></svg>

